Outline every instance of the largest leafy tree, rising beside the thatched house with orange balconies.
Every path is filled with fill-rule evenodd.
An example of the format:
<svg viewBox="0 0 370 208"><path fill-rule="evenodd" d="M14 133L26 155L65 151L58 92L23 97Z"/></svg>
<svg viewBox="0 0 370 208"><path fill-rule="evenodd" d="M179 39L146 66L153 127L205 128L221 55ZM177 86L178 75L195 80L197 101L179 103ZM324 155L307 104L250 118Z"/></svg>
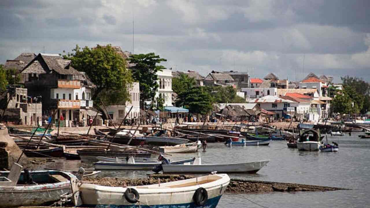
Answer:
<svg viewBox="0 0 370 208"><path fill-rule="evenodd" d="M128 88L131 87L132 76L126 69L126 60L118 54L110 44L95 48L80 48L78 45L72 53L63 58L71 60L71 66L78 71L84 71L97 86L92 94L92 100L104 100L105 104L115 104L114 100L123 103L129 100ZM111 99L117 98L117 99Z"/></svg>

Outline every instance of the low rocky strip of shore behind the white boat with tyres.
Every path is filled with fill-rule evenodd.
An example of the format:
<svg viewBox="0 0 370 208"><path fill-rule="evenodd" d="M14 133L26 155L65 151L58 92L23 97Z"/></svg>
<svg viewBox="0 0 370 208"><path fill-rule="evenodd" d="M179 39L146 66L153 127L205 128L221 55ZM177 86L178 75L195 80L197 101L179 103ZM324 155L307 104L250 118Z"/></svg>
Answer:
<svg viewBox="0 0 370 208"><path fill-rule="evenodd" d="M97 185L108 185L113 187L141 186L171 181L185 180L195 178L193 175L167 175L151 174L147 178L112 178L112 177L95 177L84 178L83 182ZM229 194L263 194L271 192L296 192L296 191L336 191L351 190L347 188L326 187L317 185L292 184L282 182L239 180L231 178L230 184L226 189Z"/></svg>

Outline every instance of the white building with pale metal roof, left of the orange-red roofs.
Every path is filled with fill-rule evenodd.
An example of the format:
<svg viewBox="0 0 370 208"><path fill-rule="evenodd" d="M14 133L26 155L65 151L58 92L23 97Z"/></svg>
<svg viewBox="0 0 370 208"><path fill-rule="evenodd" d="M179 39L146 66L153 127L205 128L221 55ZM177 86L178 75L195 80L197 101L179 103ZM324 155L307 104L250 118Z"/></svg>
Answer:
<svg viewBox="0 0 370 208"><path fill-rule="evenodd" d="M284 111L290 111L290 105L296 103L295 101L286 100L275 95L267 95L265 97L250 99L249 103L257 103L260 108L275 113L276 119L283 118L286 113Z"/></svg>

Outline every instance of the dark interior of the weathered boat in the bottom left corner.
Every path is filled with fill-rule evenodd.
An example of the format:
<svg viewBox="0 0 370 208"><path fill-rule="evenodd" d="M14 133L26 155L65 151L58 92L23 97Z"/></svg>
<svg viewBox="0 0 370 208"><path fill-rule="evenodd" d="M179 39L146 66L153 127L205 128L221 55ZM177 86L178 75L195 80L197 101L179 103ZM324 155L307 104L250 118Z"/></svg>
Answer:
<svg viewBox="0 0 370 208"><path fill-rule="evenodd" d="M0 171L0 177L7 178L8 175L9 171ZM70 177L61 171L22 171L19 176L17 185L53 184L69 180Z"/></svg>

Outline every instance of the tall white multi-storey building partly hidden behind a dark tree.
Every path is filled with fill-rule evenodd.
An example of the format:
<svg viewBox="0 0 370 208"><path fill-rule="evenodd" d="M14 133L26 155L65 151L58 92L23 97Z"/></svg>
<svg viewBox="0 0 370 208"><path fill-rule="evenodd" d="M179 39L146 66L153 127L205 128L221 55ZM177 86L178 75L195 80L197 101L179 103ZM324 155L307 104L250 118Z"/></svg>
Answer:
<svg viewBox="0 0 370 208"><path fill-rule="evenodd" d="M172 106L172 70L163 69L158 71L157 75L159 87L155 99L161 94L164 100L163 106Z"/></svg>

